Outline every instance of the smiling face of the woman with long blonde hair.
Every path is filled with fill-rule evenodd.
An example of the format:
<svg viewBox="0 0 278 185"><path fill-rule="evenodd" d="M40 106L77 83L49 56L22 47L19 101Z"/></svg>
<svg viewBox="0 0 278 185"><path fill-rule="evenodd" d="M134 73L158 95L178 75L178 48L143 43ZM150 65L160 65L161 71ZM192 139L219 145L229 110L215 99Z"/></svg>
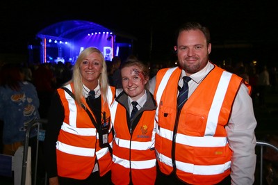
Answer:
<svg viewBox="0 0 278 185"><path fill-rule="evenodd" d="M83 58L80 64L82 83L88 88L95 88L102 70L101 56L93 52Z"/></svg>

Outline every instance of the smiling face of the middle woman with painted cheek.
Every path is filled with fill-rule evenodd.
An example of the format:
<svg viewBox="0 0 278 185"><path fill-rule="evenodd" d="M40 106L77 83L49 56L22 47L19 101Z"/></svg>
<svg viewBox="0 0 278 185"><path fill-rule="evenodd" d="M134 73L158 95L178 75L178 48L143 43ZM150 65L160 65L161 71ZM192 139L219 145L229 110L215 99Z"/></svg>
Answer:
<svg viewBox="0 0 278 185"><path fill-rule="evenodd" d="M145 85L148 81L137 65L126 66L121 70L122 88L124 92L134 101L145 93Z"/></svg>

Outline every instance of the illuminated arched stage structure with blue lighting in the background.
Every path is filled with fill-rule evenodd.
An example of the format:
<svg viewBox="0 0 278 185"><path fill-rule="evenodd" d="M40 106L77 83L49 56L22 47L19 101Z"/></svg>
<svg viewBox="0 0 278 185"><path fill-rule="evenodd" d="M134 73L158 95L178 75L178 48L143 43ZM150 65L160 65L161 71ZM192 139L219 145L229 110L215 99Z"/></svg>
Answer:
<svg viewBox="0 0 278 185"><path fill-rule="evenodd" d="M106 61L111 61L114 56L124 59L132 54L133 42L136 40L132 35L117 33L83 20L52 24L42 29L36 38L40 41L40 46L37 46L40 63L74 63L86 47L97 47ZM29 55L34 56L35 47L29 45L28 50Z"/></svg>

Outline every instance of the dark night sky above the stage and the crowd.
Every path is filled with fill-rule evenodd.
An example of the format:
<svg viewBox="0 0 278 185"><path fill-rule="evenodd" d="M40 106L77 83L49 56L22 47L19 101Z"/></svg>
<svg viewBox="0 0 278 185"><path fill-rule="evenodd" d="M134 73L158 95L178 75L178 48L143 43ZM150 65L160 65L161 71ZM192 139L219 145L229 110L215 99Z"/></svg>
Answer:
<svg viewBox="0 0 278 185"><path fill-rule="evenodd" d="M213 46L252 43L261 58L272 60L278 42L278 6L273 1L5 1L0 5L0 54L27 54L27 43L44 27L70 19L82 19L138 38L139 58L169 58L174 29L188 20L211 30ZM215 47L217 48L217 47ZM218 51L211 56L229 55ZM244 52L245 51L231 51ZM236 53L237 54L237 53ZM250 55L250 53L248 53ZM224 57L224 56L223 56ZM228 57L228 56L225 56Z"/></svg>

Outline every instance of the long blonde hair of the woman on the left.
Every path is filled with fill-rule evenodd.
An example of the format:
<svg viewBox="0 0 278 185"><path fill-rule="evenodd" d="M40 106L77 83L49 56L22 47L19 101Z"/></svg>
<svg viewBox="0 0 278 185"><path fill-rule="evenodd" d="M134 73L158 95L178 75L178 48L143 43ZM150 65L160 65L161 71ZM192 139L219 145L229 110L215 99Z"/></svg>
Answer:
<svg viewBox="0 0 278 185"><path fill-rule="evenodd" d="M80 72L80 65L84 58L87 58L92 53L97 53L101 57L101 65L102 65L102 70L101 74L99 76L99 84L100 84L100 91L101 91L101 97L104 99L104 102L107 102L107 90L108 90L108 77L107 77L107 72L106 72L106 63L104 60L104 55L101 53L99 49L96 47L88 47L81 51L79 54L79 57L76 60L76 63L74 64L73 70L72 70L72 79L69 81L67 84L73 82L74 83L74 95L77 104L81 106L82 102L82 97L83 97L83 83L82 83L82 76Z"/></svg>

